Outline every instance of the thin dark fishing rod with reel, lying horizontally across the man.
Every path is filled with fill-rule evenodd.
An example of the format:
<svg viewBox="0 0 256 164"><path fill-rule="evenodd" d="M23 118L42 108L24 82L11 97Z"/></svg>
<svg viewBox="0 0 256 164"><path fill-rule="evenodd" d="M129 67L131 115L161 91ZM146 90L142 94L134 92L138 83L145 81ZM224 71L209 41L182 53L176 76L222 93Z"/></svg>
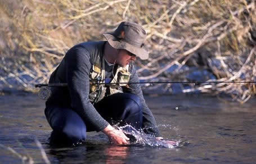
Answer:
<svg viewBox="0 0 256 164"><path fill-rule="evenodd" d="M90 84L97 85L114 85L114 84L203 84L203 83L230 83L230 84L256 84L256 81L145 81L145 82L132 82L132 83L100 83L100 82L92 82ZM49 84L35 84L35 88L41 88L44 86L55 87L55 86L68 86L68 83L49 83Z"/></svg>

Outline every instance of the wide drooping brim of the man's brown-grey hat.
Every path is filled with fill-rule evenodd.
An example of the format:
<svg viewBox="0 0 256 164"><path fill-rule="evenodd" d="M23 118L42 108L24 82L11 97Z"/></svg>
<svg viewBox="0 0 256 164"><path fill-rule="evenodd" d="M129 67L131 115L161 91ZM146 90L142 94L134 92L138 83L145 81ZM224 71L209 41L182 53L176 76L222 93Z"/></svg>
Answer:
<svg viewBox="0 0 256 164"><path fill-rule="evenodd" d="M132 44L124 42L123 40L119 40L115 38L111 33L105 33L102 35L104 35L104 37L107 39L107 42L109 42L109 44L116 49L126 49L127 51L140 57L141 60L147 60L149 58L149 53L143 47L138 48Z"/></svg>

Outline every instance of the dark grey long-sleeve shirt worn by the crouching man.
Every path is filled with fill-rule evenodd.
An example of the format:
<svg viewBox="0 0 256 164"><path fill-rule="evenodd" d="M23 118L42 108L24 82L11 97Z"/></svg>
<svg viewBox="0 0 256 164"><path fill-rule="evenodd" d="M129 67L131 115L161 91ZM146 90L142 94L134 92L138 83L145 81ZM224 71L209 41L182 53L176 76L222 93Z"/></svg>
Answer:
<svg viewBox="0 0 256 164"><path fill-rule="evenodd" d="M97 54L102 56L106 42L84 42L71 48L61 61L59 67L52 73L49 83L68 83L68 87L52 87L52 95L46 102L47 106L71 107L82 119L89 122L92 129L101 131L109 123L101 117L89 101L89 73ZM104 60L103 60L104 61ZM106 76L109 78L111 66L105 65ZM131 65L129 83L139 82L134 66ZM133 93L140 97L143 105L142 127L145 133L160 136L154 116L146 105L140 84L130 84L129 90L123 92Z"/></svg>

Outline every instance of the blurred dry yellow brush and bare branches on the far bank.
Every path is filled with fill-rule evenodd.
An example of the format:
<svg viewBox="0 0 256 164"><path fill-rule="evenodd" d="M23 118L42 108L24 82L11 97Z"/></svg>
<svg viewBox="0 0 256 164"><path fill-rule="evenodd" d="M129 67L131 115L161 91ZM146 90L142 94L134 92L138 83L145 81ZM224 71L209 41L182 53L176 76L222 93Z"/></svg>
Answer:
<svg viewBox="0 0 256 164"><path fill-rule="evenodd" d="M47 83L65 52L104 40L123 20L147 31L146 81L256 81L255 0L1 0L0 90ZM149 86L143 86L143 88ZM255 84L155 85L163 93L225 93L246 102Z"/></svg>

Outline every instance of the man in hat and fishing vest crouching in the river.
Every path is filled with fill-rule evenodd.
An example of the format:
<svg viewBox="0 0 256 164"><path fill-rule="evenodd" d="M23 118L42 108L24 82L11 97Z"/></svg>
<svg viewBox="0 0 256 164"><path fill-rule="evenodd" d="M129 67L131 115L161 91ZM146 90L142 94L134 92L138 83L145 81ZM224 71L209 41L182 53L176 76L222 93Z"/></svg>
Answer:
<svg viewBox="0 0 256 164"><path fill-rule="evenodd" d="M132 61L149 57L144 48L146 31L124 21L104 37L107 41L69 49L51 75L49 83L68 83L66 88L52 87L46 101L52 143L75 144L86 139L87 131L102 131L111 143L127 144L129 138L115 124L129 124L162 139L140 84L127 84L139 82Z"/></svg>

